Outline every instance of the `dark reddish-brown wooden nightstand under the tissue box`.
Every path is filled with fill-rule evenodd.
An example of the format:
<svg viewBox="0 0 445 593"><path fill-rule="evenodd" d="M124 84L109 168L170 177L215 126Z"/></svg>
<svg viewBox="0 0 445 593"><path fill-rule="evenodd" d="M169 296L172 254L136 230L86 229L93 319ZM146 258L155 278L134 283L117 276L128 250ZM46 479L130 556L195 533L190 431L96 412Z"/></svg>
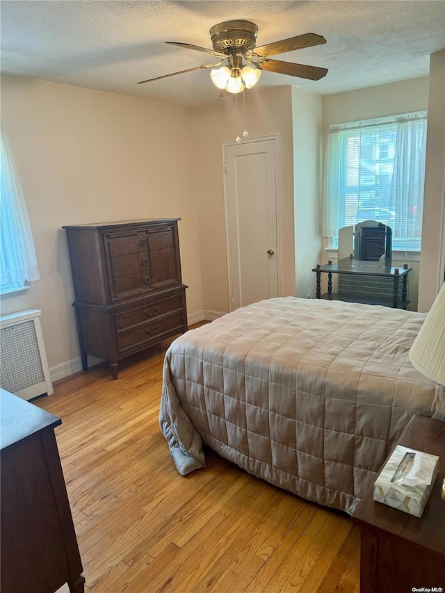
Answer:
<svg viewBox="0 0 445 593"><path fill-rule="evenodd" d="M373 500L373 485L353 514L361 530L360 593L445 589L445 422L413 416L398 445L439 455L439 473L422 517ZM433 588L436 587L436 588Z"/></svg>

